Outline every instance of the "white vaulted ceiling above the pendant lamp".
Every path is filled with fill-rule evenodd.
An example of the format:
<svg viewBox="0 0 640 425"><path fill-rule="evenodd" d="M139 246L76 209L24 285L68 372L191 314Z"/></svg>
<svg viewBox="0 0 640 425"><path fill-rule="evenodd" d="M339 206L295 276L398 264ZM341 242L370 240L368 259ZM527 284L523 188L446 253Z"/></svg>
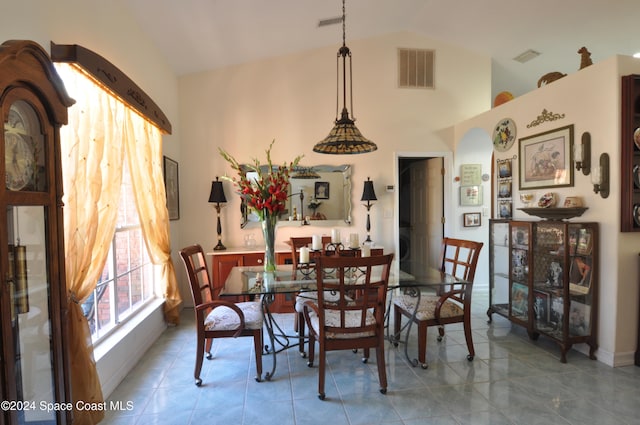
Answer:
<svg viewBox="0 0 640 425"><path fill-rule="evenodd" d="M340 0L127 0L178 75L308 49L338 46ZM486 54L493 93L520 95L540 76L575 72L586 46L593 62L640 51L639 0L347 0L349 40L413 31ZM403 46L398 46L403 47ZM514 60L528 49L540 56ZM355 54L355 52L354 52Z"/></svg>

